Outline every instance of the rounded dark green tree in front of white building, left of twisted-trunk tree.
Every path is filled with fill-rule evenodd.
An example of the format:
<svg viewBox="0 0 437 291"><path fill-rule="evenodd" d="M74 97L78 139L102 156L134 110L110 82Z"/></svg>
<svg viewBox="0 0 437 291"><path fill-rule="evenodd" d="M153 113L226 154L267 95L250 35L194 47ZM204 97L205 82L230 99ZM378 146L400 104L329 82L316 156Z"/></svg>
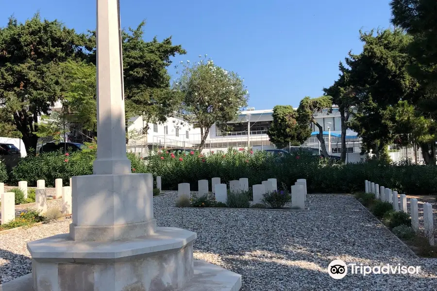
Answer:
<svg viewBox="0 0 437 291"><path fill-rule="evenodd" d="M276 105L273 107L273 121L267 131L270 141L275 145L291 144L300 146L310 137L311 128L308 121L298 123L298 112L290 105Z"/></svg>

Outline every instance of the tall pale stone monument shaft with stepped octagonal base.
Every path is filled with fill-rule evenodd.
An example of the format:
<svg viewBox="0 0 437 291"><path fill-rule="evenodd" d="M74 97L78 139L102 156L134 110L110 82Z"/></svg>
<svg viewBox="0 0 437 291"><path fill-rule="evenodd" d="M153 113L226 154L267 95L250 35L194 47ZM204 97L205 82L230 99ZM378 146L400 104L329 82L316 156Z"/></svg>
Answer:
<svg viewBox="0 0 437 291"><path fill-rule="evenodd" d="M240 275L194 261L196 233L156 226L152 174L126 157L119 1L96 2L97 159L72 178L69 233L27 244L34 291L238 291Z"/></svg>

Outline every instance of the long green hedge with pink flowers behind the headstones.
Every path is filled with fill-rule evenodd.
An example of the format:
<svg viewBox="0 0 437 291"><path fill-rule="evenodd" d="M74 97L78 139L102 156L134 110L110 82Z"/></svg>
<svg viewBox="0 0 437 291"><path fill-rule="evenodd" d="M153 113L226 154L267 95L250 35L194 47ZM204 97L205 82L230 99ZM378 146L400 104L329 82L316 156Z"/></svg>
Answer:
<svg viewBox="0 0 437 291"><path fill-rule="evenodd" d="M36 180L45 179L53 186L56 178L67 184L72 176L92 174L95 149L65 156L45 153L22 159L12 172L14 182L26 180L35 186ZM192 152L186 156L173 156L158 152L147 162L134 153L128 153L133 173L152 173L162 177L163 189L176 190L179 183L190 183L197 190L198 180L214 177L222 183L239 178L249 178L249 184L260 184L268 178L277 178L278 184L294 185L299 178L306 178L312 193L351 193L364 189L364 180L371 180L386 188L406 194L436 194L437 166L377 161L357 164L331 164L325 159L301 153L296 156L277 157L266 152L251 153L246 150L228 150L202 155ZM0 167L1 178L1 167Z"/></svg>

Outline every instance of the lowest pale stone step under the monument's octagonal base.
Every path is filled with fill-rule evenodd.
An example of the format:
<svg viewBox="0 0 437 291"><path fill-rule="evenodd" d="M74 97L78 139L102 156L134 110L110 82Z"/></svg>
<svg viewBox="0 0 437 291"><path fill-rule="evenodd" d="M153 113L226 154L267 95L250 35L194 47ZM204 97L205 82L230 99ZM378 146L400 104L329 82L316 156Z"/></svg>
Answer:
<svg viewBox="0 0 437 291"><path fill-rule="evenodd" d="M241 275L203 260L194 260L194 276L184 287L176 291L238 291ZM0 285L1 291L34 291L33 274L24 275ZM141 289L136 289L141 290ZM144 289L147 290L147 289ZM152 289L149 289L152 291Z"/></svg>

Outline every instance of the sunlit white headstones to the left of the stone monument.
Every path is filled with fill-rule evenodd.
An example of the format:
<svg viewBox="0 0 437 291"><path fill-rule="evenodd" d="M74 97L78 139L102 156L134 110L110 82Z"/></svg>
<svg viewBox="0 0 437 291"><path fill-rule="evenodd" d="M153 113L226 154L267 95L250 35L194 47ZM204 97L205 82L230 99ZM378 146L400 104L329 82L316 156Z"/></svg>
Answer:
<svg viewBox="0 0 437 291"><path fill-rule="evenodd" d="M27 181L19 181L18 188L23 191L24 198L28 198ZM54 199L62 196L61 211L64 214L72 213L71 206L71 178L70 186L62 186L62 179L55 180L55 197ZM4 183L0 183L0 197L1 197L1 224L8 223L15 219L15 193L4 192ZM47 192L46 181L37 180L35 189L35 209L42 214L47 212Z"/></svg>

